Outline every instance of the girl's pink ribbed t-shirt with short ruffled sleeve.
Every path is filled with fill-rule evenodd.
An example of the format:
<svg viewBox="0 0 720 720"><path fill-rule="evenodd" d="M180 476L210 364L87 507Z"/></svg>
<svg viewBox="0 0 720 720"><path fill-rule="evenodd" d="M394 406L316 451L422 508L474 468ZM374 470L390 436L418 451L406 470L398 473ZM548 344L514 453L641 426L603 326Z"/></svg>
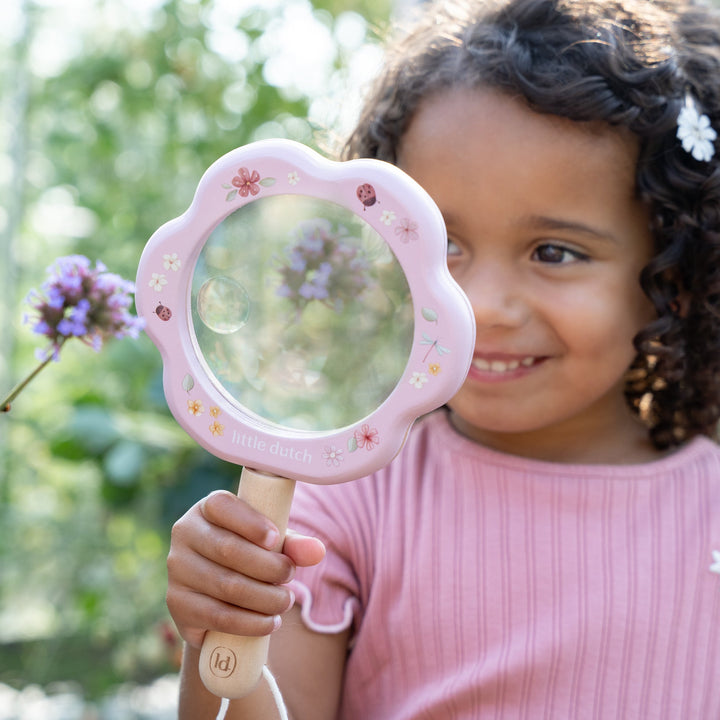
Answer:
<svg viewBox="0 0 720 720"><path fill-rule="evenodd" d="M328 546L293 581L305 622L352 630L342 720L720 718L711 441L562 465L439 411L384 470L296 492L291 527Z"/></svg>

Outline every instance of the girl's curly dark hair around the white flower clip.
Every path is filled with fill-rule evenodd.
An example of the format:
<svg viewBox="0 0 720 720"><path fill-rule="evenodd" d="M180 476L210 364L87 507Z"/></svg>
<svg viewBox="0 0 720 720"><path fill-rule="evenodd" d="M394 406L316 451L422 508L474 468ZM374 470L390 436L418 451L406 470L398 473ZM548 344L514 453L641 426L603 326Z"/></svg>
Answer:
<svg viewBox="0 0 720 720"><path fill-rule="evenodd" d="M720 128L720 15L691 0L445 0L394 47L346 158L395 163L420 102L490 87L540 113L628 128L654 257L639 281L657 318L635 337L626 397L668 448L720 418L720 156L676 137L686 98Z"/></svg>

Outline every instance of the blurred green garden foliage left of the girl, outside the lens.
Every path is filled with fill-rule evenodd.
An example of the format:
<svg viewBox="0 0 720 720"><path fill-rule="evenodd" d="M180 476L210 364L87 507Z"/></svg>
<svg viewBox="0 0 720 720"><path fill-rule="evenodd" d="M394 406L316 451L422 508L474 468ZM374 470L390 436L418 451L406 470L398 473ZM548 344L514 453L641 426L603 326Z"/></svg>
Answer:
<svg viewBox="0 0 720 720"><path fill-rule="evenodd" d="M36 363L24 298L56 257L134 280L147 239L217 157L342 135L391 4L6 0L0 394ZM94 701L174 672L170 527L237 476L170 417L146 336L100 354L68 343L0 414L0 684L70 682ZM15 717L2 702L0 718Z"/></svg>

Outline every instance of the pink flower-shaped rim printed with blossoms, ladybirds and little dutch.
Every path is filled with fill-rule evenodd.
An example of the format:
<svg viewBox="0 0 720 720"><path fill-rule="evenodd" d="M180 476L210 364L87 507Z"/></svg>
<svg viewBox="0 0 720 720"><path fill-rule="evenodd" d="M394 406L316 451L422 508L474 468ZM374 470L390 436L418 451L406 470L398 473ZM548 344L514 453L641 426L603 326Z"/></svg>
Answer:
<svg viewBox="0 0 720 720"><path fill-rule="evenodd" d="M328 200L360 216L390 246L408 282L414 336L405 371L385 402L349 427L309 432L266 423L233 401L199 356L189 307L203 246L238 208L282 194ZM472 308L448 272L446 246L435 203L393 165L334 162L289 140L227 153L205 172L187 211L153 234L138 268L138 314L162 355L173 415L214 455L294 480L344 482L383 467L414 420L457 392L472 359Z"/></svg>

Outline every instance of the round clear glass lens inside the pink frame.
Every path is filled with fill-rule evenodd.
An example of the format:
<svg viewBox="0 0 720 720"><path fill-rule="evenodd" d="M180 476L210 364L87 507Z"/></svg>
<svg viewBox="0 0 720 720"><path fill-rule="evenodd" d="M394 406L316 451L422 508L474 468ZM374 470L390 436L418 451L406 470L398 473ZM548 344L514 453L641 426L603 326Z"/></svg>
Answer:
<svg viewBox="0 0 720 720"><path fill-rule="evenodd" d="M334 430L378 408L405 370L413 310L405 274L361 217L326 200L255 200L208 238L192 329L221 391L295 430Z"/></svg>

